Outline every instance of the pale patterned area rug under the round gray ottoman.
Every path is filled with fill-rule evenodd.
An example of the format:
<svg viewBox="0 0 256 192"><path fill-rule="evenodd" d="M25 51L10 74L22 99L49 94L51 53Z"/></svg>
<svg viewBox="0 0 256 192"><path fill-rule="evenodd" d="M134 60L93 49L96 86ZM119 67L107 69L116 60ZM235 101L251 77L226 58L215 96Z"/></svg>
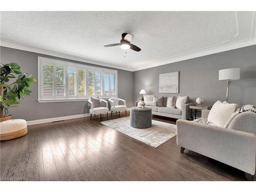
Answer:
<svg viewBox="0 0 256 192"><path fill-rule="evenodd" d="M152 127L147 129L132 127L130 117L112 119L101 123L155 148L177 135L176 125L155 120L152 120Z"/></svg>

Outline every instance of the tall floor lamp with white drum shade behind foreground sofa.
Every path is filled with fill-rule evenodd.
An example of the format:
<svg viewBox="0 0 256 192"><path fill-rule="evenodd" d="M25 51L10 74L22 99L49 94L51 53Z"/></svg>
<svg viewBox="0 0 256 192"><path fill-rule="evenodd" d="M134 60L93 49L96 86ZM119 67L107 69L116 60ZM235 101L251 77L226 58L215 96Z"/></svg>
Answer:
<svg viewBox="0 0 256 192"><path fill-rule="evenodd" d="M230 68L219 70L219 80L226 80L227 82L227 94L226 101L228 102L228 90L231 80L240 79L240 68Z"/></svg>

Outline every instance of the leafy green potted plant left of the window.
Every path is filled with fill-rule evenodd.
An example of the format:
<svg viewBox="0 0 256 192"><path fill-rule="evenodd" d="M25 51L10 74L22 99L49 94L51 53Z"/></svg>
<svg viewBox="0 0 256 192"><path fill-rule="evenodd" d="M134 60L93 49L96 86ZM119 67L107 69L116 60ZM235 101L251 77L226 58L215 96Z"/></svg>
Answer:
<svg viewBox="0 0 256 192"><path fill-rule="evenodd" d="M7 116L10 105L18 104L16 100L30 95L30 84L36 81L31 75L22 73L20 66L15 63L0 65L0 122L11 119Z"/></svg>

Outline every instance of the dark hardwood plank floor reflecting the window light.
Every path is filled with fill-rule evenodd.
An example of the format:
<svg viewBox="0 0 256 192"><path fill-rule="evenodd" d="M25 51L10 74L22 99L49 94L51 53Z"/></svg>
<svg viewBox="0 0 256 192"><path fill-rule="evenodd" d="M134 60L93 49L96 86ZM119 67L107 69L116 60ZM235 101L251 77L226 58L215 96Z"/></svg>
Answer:
<svg viewBox="0 0 256 192"><path fill-rule="evenodd" d="M154 116L153 119L176 123L169 118ZM106 120L105 115L102 120ZM1 141L0 179L245 180L244 173L236 168L188 150L181 154L176 137L154 148L99 121L99 117L96 120L86 117L30 125L26 136Z"/></svg>

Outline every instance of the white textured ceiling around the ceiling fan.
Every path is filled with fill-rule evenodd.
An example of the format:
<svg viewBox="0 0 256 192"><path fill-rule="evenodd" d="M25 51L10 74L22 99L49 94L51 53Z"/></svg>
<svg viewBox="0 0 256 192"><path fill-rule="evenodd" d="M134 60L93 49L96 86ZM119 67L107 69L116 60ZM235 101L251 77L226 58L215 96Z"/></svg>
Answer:
<svg viewBox="0 0 256 192"><path fill-rule="evenodd" d="M1 40L135 71L255 40L253 18L254 12L228 11L1 12ZM119 42L124 32L134 34L132 44L142 51L103 47Z"/></svg>

